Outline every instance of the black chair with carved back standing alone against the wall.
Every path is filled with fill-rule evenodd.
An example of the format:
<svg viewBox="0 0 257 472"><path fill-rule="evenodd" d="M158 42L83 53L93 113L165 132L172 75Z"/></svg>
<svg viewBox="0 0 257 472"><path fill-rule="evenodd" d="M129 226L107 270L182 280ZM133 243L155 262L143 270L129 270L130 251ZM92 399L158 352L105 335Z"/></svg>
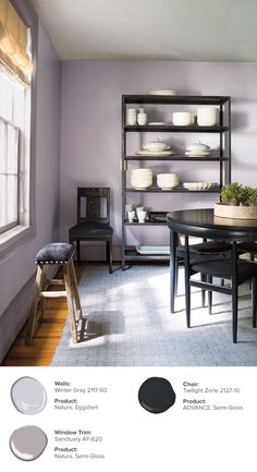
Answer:
<svg viewBox="0 0 257 472"><path fill-rule="evenodd" d="M69 229L70 243L76 241L81 263L81 241L105 241L109 273L112 273L112 234L110 226L110 189L77 189L77 223Z"/></svg>

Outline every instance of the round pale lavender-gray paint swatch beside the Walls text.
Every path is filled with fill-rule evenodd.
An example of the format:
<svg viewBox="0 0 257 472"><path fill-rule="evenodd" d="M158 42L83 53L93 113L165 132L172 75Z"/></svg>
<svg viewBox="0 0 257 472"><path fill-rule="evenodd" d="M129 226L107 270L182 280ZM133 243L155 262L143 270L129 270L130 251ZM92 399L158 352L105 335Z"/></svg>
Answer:
<svg viewBox="0 0 257 472"><path fill-rule="evenodd" d="M21 377L13 384L11 398L14 407L23 414L36 414L47 403L47 392L40 382L33 377Z"/></svg>

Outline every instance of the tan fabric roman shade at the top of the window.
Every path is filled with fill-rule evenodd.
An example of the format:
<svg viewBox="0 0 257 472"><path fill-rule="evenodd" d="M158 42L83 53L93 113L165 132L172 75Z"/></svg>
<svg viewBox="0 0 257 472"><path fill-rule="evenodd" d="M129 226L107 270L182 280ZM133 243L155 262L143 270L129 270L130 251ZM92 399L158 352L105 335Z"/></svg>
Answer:
<svg viewBox="0 0 257 472"><path fill-rule="evenodd" d="M28 86L33 62L27 53L28 28L11 0L0 1L0 70Z"/></svg>

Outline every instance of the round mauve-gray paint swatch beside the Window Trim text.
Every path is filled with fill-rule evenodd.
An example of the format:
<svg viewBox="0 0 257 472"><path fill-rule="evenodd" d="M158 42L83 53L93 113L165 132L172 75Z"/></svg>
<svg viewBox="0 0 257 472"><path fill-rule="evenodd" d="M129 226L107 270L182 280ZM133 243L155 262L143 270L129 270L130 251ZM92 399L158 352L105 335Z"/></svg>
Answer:
<svg viewBox="0 0 257 472"><path fill-rule="evenodd" d="M11 451L21 460L35 460L44 452L47 436L38 426L23 426L10 437Z"/></svg>

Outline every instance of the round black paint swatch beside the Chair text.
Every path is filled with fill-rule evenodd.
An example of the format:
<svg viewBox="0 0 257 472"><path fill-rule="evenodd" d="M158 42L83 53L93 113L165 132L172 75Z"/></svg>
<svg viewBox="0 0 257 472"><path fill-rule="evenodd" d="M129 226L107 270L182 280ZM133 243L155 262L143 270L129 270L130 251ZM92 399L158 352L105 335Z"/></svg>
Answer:
<svg viewBox="0 0 257 472"><path fill-rule="evenodd" d="M142 384L138 400L150 413L162 413L175 402L175 392L166 378L149 377Z"/></svg>

